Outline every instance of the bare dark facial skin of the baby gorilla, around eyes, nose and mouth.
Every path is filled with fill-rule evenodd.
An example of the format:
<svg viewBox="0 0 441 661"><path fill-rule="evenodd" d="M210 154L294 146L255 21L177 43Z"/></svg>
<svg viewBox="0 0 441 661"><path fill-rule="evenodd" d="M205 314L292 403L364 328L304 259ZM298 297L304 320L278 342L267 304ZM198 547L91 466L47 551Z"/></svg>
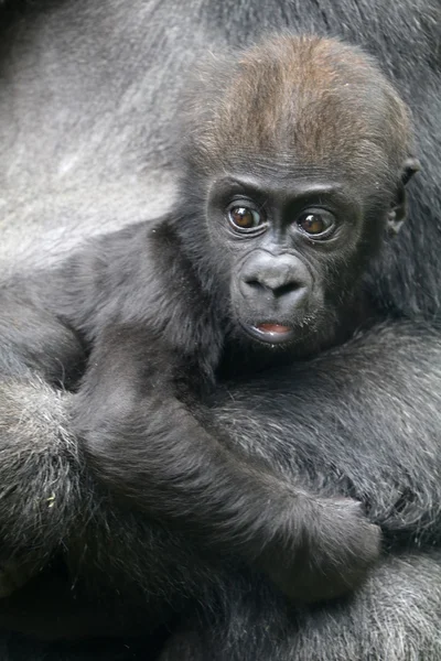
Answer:
<svg viewBox="0 0 441 661"><path fill-rule="evenodd" d="M345 294L344 261L356 253L362 209L324 174L227 176L209 191L208 232L230 254L233 314L255 342L304 344L326 305ZM338 281L329 271L340 263Z"/></svg>

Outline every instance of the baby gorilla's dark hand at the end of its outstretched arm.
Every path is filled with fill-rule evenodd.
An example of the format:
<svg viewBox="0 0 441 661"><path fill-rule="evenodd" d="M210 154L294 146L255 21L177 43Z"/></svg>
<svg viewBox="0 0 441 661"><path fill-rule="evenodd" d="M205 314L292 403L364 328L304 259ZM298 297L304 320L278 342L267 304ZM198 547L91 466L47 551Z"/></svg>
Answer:
<svg viewBox="0 0 441 661"><path fill-rule="evenodd" d="M305 496L301 510L304 520L294 523L284 543L276 533L267 549L261 565L266 573L287 596L302 602L332 599L356 588L379 557L380 529L348 498Z"/></svg>

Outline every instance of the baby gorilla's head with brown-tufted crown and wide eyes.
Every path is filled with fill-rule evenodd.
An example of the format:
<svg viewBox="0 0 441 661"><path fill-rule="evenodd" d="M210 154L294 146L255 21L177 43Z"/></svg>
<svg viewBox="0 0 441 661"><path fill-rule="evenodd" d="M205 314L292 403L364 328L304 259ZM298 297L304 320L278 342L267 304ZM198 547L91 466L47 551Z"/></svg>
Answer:
<svg viewBox="0 0 441 661"><path fill-rule="evenodd" d="M368 56L316 36L215 59L197 87L183 242L228 291L237 333L308 351L333 336L405 217L418 170L407 108Z"/></svg>

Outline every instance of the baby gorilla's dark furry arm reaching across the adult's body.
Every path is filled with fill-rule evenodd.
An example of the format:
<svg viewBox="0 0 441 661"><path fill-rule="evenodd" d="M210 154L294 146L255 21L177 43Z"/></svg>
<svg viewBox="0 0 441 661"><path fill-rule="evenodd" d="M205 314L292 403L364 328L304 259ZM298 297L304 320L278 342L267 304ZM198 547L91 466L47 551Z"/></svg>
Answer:
<svg viewBox="0 0 441 661"><path fill-rule="evenodd" d="M255 562L293 598L357 585L379 553L359 503L316 499L227 451L176 398L172 361L146 328L100 334L74 413L98 477L213 553Z"/></svg>

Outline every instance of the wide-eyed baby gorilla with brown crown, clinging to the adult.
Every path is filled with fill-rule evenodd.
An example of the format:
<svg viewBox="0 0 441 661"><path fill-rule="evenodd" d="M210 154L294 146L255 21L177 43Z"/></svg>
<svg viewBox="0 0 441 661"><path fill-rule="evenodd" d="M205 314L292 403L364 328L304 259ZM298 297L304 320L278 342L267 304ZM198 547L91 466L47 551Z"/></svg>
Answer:
<svg viewBox="0 0 441 661"><path fill-rule="evenodd" d="M363 274L418 169L408 112L368 57L319 37L216 59L195 88L174 210L44 284L90 350L74 429L129 505L292 598L334 597L378 557L378 528L215 437L201 401L369 323Z"/></svg>

